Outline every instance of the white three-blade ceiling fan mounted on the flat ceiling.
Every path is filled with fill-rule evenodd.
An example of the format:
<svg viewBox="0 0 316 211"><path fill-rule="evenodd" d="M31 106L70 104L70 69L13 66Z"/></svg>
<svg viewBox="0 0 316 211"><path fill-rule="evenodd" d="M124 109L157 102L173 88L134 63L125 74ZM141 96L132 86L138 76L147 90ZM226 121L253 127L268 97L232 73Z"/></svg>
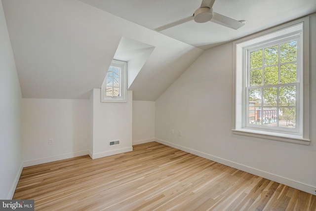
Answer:
<svg viewBox="0 0 316 211"><path fill-rule="evenodd" d="M197 23L205 23L207 21L211 21L232 29L239 29L245 24L244 20L237 21L232 18L226 17L224 15L218 14L216 12L213 12L213 4L215 0L202 0L201 6L194 12L192 16L177 20L175 22L166 24L164 26L160 26L156 28L155 30L157 32L160 32L162 30L180 25L182 23L191 21L194 19Z"/></svg>

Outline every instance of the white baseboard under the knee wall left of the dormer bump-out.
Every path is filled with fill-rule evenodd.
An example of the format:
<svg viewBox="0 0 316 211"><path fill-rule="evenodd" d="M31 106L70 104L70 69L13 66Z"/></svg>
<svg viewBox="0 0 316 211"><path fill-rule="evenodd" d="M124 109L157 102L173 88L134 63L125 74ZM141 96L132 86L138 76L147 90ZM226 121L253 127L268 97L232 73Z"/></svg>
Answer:
<svg viewBox="0 0 316 211"><path fill-rule="evenodd" d="M60 160L68 159L68 158L75 158L78 156L88 155L88 154L89 154L89 150L84 150L84 151L79 151L79 152L63 154L63 155L56 155L56 156L47 157L47 158L40 158L40 159L32 160L32 161L25 161L23 162L23 167L30 167L30 166L35 166L39 164L45 164L49 162L60 161Z"/></svg>

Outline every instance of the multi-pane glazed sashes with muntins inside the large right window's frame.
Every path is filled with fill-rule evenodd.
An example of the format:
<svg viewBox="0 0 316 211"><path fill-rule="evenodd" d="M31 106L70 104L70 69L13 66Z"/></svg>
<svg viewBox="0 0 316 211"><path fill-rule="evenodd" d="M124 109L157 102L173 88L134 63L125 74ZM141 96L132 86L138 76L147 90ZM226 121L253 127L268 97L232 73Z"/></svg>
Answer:
<svg viewBox="0 0 316 211"><path fill-rule="evenodd" d="M300 37L246 49L245 128L299 133Z"/></svg>

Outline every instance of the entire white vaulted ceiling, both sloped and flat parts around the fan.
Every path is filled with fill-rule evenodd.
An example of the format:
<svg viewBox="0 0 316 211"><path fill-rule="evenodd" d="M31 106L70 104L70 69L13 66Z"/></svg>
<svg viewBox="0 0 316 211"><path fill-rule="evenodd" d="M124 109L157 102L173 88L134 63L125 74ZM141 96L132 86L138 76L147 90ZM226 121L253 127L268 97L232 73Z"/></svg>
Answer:
<svg viewBox="0 0 316 211"><path fill-rule="evenodd" d="M315 0L216 0L214 11L246 24L233 30L190 21L154 30L192 15L200 3L2 0L23 97L88 99L93 88L101 87L120 41L126 38L153 46L129 89L134 100L156 100L204 49L316 11ZM121 55L125 58L137 54L125 51L129 52Z"/></svg>

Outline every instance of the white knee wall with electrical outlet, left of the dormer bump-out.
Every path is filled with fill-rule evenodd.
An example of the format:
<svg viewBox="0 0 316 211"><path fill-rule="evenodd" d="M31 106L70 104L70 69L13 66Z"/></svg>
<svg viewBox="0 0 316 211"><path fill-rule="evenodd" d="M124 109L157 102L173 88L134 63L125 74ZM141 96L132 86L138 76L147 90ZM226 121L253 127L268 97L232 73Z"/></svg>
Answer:
<svg viewBox="0 0 316 211"><path fill-rule="evenodd" d="M24 166L88 154L89 108L89 100L23 98Z"/></svg>

